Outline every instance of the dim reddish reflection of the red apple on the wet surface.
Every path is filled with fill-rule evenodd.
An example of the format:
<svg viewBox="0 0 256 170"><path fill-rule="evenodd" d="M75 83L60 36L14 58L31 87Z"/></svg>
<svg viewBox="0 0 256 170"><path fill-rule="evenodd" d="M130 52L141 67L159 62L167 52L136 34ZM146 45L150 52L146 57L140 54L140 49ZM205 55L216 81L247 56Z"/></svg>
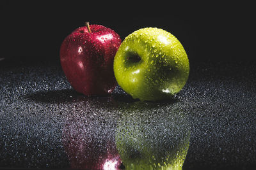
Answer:
<svg viewBox="0 0 256 170"><path fill-rule="evenodd" d="M74 107L63 126L63 146L70 168L118 169L121 160L115 145L115 117L106 115L115 104L107 99L86 99L84 103L84 108ZM84 111L77 111L80 109Z"/></svg>

